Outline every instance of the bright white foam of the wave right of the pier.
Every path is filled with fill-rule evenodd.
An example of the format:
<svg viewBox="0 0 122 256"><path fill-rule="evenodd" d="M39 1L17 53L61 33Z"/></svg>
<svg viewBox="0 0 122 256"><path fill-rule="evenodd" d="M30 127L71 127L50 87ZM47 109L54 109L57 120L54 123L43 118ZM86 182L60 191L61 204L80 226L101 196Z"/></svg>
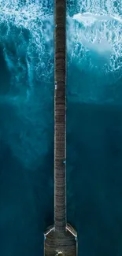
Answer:
<svg viewBox="0 0 122 256"><path fill-rule="evenodd" d="M79 13L68 16L68 52L79 68L98 65L100 71L115 72L122 68L122 3L120 1L78 1ZM98 64L96 54L98 54ZM89 65L88 65L89 62Z"/></svg>

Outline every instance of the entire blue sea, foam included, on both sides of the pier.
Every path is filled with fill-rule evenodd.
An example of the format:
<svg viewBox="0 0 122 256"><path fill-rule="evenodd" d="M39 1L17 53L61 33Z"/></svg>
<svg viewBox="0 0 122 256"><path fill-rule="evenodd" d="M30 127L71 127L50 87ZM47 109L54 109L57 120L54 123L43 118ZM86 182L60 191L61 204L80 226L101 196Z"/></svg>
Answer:
<svg viewBox="0 0 122 256"><path fill-rule="evenodd" d="M0 7L0 255L39 256L43 232L54 223L53 5L5 3ZM119 0L97 3L68 1L67 7L68 221L78 232L79 255L120 256L122 13Z"/></svg>

